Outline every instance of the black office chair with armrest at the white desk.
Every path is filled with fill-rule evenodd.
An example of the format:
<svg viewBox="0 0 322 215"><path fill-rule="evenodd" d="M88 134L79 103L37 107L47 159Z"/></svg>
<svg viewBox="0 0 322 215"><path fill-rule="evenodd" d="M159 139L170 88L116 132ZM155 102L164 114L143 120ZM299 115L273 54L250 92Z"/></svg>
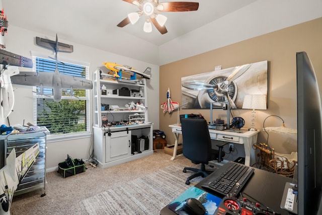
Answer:
<svg viewBox="0 0 322 215"><path fill-rule="evenodd" d="M217 145L219 150L211 148L211 139L209 135L208 124L205 119L199 118L182 118L182 139L183 139L183 155L191 160L194 164L201 164L200 169L185 167L183 172L191 170L195 172L186 180L186 184L190 184L190 180L196 177L207 177L212 171L206 171L205 165L209 161L217 160L218 163L223 160L225 153L222 148L228 142Z"/></svg>

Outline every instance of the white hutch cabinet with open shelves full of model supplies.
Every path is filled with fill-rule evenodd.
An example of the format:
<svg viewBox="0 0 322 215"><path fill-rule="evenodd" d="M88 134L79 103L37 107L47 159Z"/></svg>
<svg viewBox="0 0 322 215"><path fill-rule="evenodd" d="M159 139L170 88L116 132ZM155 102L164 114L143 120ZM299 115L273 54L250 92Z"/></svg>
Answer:
<svg viewBox="0 0 322 215"><path fill-rule="evenodd" d="M96 70L93 81L94 154L99 166L106 168L152 155L153 128L147 120L146 80L105 80ZM141 139L144 146L139 146Z"/></svg>

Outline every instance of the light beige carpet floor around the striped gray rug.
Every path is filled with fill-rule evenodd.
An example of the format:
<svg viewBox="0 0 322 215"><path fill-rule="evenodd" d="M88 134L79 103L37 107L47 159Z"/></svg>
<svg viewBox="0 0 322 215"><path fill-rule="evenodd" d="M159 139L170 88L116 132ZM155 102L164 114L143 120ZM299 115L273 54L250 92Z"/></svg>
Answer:
<svg viewBox="0 0 322 215"><path fill-rule="evenodd" d="M115 187L121 186L122 183L129 184L131 181L140 180L139 178L142 179L144 176L157 173L158 170L172 165L178 167L178 176L183 174L182 178L180 176L176 179L176 183L188 188L189 186L185 185L186 177L192 173L182 173L182 169L185 166L199 166L192 164L183 156L174 161L170 159L171 156L165 154L164 150L155 150L153 155L145 158L106 169L89 168L85 173L68 178L62 178L57 172L47 173L46 196L40 197L42 189L15 196L10 209L11 214L91 214L91 211L86 210L86 202L94 202L93 199L98 195L102 193L105 195L106 192L116 190ZM156 182L160 184L163 183L162 179L155 180L158 180ZM197 183L197 181L191 182L191 185ZM170 194L168 199L176 197L177 193ZM142 202L144 204L144 201ZM171 200L169 202L165 200L164 204L167 205L170 202ZM122 213L115 211L114 214Z"/></svg>

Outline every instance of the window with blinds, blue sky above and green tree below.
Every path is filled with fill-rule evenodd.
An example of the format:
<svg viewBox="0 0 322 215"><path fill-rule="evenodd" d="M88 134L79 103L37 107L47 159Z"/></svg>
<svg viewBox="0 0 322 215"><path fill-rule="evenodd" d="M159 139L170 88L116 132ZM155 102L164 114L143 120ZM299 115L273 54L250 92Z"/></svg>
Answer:
<svg viewBox="0 0 322 215"><path fill-rule="evenodd" d="M36 72L53 73L56 61L33 57ZM89 79L89 66L57 61L61 74ZM52 135L89 131L89 90L62 89L61 101L53 100L53 89L34 88L34 123L46 126Z"/></svg>

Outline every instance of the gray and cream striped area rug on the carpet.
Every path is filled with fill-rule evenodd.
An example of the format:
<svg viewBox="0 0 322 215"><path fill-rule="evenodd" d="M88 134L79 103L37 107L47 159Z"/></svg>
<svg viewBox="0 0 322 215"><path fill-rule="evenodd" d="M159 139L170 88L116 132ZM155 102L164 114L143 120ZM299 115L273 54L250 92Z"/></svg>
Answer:
<svg viewBox="0 0 322 215"><path fill-rule="evenodd" d="M88 214L159 214L173 199L196 185L201 177L186 185L192 174L183 167L170 165L131 181L117 183L113 188L82 201Z"/></svg>

